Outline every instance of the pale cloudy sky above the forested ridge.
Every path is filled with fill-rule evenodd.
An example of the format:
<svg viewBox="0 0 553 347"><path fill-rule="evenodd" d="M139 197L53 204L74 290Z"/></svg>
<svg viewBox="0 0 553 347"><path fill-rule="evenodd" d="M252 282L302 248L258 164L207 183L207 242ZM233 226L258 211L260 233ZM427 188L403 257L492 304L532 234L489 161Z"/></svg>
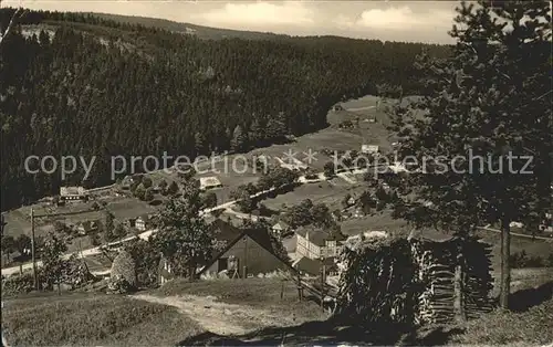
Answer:
<svg viewBox="0 0 553 347"><path fill-rule="evenodd" d="M92 11L291 35L335 34L451 43L459 1L139 1L0 0L2 7Z"/></svg>

